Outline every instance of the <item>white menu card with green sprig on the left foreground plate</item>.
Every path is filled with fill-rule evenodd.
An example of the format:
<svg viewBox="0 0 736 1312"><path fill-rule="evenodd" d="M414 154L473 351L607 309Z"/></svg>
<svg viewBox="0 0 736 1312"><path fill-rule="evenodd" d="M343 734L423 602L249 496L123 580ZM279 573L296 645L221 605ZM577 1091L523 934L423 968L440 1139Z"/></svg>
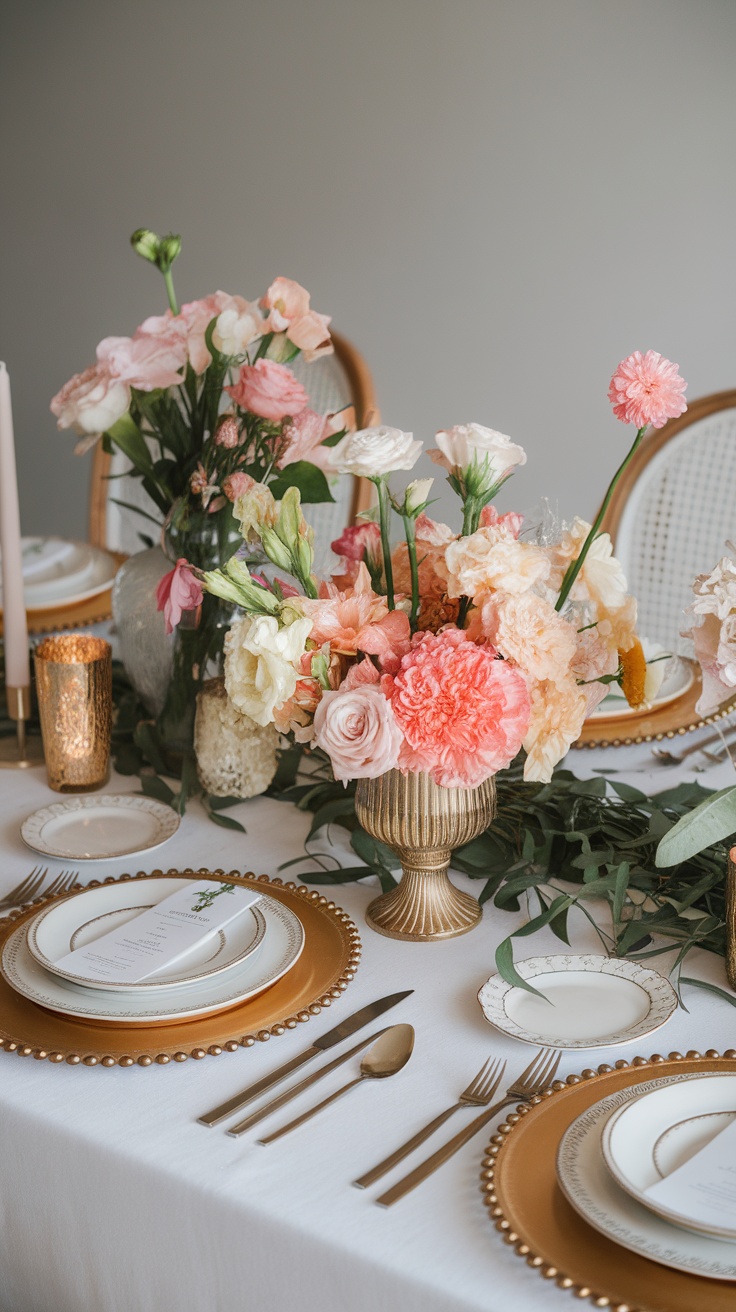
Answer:
<svg viewBox="0 0 736 1312"><path fill-rule="evenodd" d="M138 984L243 916L260 896L215 879L188 880L171 897L87 947L76 947L55 964L83 980Z"/></svg>

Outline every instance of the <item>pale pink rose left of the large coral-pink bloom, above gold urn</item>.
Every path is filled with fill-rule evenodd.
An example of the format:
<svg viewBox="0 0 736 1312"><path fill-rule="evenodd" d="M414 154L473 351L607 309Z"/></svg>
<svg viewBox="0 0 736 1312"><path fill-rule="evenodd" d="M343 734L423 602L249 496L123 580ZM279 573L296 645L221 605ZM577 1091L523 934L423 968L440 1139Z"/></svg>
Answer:
<svg viewBox="0 0 736 1312"><path fill-rule="evenodd" d="M315 743L327 752L336 779L375 779L399 761L401 732L391 703L375 684L324 693L315 711Z"/></svg>

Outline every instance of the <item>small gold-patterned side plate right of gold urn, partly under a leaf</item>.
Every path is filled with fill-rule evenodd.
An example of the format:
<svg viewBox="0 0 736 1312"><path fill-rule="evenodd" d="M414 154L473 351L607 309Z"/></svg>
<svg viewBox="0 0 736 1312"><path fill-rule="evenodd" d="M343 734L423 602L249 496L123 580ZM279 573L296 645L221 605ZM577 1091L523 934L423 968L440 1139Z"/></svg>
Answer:
<svg viewBox="0 0 736 1312"><path fill-rule="evenodd" d="M617 956L530 956L516 971L542 997L492 975L478 994L491 1025L522 1043L602 1048L659 1030L677 1006L669 980Z"/></svg>

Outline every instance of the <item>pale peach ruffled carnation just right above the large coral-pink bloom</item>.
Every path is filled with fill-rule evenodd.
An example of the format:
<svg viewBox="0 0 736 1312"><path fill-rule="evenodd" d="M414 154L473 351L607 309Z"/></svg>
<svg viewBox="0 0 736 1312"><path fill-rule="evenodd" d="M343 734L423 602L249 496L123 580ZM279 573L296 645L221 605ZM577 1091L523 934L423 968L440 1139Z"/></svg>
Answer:
<svg viewBox="0 0 736 1312"><path fill-rule="evenodd" d="M575 627L544 597L491 593L474 611L474 627L525 674L564 680L577 652Z"/></svg>

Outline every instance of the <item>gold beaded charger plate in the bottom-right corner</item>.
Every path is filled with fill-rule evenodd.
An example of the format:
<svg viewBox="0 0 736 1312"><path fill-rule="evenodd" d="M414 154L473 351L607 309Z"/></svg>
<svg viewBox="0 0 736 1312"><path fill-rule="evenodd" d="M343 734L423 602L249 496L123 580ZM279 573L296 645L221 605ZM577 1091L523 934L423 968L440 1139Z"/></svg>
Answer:
<svg viewBox="0 0 736 1312"><path fill-rule="evenodd" d="M733 1312L731 1279L673 1270L622 1248L583 1219L560 1189L556 1172L563 1136L602 1099L615 1101L632 1086L642 1092L652 1080L731 1071L736 1071L732 1048L724 1056L635 1057L631 1064L617 1063L615 1069L602 1065L597 1073L584 1071L558 1081L530 1106L506 1117L481 1170L485 1204L505 1242L541 1275L611 1312ZM723 1241L710 1242L723 1258Z"/></svg>

